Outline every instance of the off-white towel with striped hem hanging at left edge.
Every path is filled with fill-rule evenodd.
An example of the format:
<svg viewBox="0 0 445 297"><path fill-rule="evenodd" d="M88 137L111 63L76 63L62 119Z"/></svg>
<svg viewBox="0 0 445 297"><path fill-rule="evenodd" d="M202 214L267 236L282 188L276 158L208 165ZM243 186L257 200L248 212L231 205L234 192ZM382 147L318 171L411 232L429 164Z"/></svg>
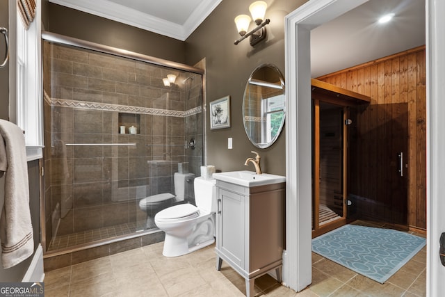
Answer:
<svg viewBox="0 0 445 297"><path fill-rule="evenodd" d="M28 163L22 129L12 122L0 120L0 147L0 166L3 166L0 170L6 171L5 202L0 218L1 261L3 268L10 268L34 251Z"/></svg>

